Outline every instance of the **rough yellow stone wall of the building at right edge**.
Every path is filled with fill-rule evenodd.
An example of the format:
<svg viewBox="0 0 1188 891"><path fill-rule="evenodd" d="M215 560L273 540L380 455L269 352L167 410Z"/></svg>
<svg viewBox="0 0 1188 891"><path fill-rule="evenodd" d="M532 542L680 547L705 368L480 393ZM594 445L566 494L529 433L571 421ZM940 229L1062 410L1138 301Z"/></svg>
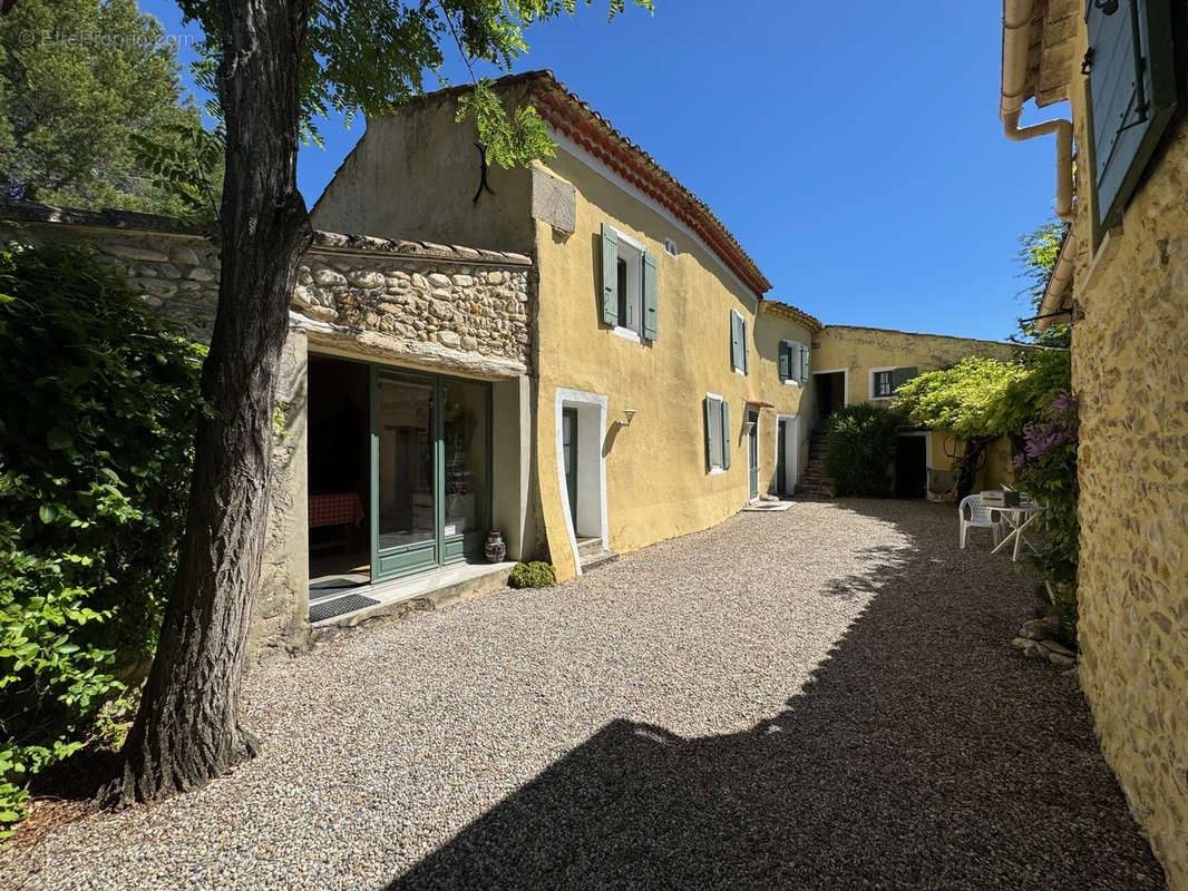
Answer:
<svg viewBox="0 0 1188 891"><path fill-rule="evenodd" d="M1079 45L1087 44L1083 21ZM1086 78L1070 100L1079 150ZM1093 170L1092 159L1083 169ZM1078 177L1080 181L1080 177ZM1094 255L1073 232L1080 399L1080 680L1101 748L1169 887L1188 889L1188 122L1180 116ZM1091 266L1092 272L1091 272Z"/></svg>

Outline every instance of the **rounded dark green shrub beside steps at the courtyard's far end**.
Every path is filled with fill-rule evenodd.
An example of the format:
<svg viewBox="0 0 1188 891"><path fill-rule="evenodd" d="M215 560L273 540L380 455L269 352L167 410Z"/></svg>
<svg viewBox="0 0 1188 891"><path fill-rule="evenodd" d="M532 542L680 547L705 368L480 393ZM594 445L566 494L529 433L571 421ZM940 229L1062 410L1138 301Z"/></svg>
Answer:
<svg viewBox="0 0 1188 891"><path fill-rule="evenodd" d="M891 493L899 416L880 405L858 403L829 416L824 472L839 495Z"/></svg>

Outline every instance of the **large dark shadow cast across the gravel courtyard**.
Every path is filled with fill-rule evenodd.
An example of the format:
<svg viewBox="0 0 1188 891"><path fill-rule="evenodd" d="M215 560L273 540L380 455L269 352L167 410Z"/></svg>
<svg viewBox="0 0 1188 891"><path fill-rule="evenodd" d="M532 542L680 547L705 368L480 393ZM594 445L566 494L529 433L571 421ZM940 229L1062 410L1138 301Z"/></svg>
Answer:
<svg viewBox="0 0 1188 891"><path fill-rule="evenodd" d="M1163 887L1075 682L1007 645L1010 564L939 552L918 508L843 506L911 545L826 587L876 596L784 712L700 739L614 721L390 891Z"/></svg>

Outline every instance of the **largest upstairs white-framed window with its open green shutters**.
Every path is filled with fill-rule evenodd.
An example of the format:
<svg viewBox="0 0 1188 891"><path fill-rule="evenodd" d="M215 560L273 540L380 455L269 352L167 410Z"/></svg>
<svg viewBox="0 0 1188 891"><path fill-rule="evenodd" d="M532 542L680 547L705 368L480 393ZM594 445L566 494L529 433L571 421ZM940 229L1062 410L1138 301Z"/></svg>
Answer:
<svg viewBox="0 0 1188 891"><path fill-rule="evenodd" d="M656 340L658 264L643 242L602 225L602 322L628 340Z"/></svg>

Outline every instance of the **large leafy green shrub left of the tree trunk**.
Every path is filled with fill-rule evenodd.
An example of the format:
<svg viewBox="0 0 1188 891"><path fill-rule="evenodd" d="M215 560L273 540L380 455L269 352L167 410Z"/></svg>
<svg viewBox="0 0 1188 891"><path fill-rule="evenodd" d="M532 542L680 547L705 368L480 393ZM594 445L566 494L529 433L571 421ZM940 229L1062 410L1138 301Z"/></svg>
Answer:
<svg viewBox="0 0 1188 891"><path fill-rule="evenodd" d="M87 255L0 249L0 838L151 659L202 355Z"/></svg>

